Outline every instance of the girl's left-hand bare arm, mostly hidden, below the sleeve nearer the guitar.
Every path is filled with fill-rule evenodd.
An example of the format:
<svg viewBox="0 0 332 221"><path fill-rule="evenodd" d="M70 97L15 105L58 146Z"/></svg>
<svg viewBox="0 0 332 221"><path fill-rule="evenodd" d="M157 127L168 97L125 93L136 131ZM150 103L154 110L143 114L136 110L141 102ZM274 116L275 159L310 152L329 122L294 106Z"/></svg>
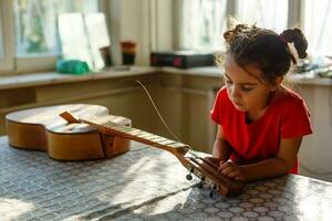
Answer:
<svg viewBox="0 0 332 221"><path fill-rule="evenodd" d="M227 161L232 152L232 148L226 140L221 125L218 125L218 133L214 144L212 157Z"/></svg>

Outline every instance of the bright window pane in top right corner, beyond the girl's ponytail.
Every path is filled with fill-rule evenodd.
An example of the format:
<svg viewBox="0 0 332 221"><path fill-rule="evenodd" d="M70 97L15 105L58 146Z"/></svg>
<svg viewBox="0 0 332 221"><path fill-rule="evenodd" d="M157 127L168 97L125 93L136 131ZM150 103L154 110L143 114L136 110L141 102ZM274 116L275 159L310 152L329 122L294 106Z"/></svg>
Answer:
<svg viewBox="0 0 332 221"><path fill-rule="evenodd" d="M332 1L304 1L304 34L309 42L309 53L332 55Z"/></svg>

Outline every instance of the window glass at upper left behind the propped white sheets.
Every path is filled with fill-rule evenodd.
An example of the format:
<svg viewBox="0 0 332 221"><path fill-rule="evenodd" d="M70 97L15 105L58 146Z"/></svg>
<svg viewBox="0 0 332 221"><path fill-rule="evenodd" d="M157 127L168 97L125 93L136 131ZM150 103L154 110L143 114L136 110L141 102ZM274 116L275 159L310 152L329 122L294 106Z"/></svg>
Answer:
<svg viewBox="0 0 332 221"><path fill-rule="evenodd" d="M97 0L14 0L17 54L55 54L60 51L56 14L96 12Z"/></svg>

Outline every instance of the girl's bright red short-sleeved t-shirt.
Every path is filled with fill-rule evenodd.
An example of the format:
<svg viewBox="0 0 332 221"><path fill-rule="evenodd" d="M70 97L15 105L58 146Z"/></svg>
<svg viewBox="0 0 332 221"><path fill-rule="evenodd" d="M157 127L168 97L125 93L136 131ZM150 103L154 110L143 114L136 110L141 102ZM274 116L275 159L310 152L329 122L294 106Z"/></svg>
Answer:
<svg viewBox="0 0 332 221"><path fill-rule="evenodd" d="M247 124L246 113L235 108L226 87L216 97L210 112L214 122L222 126L227 141L234 148L231 159L250 164L276 157L281 138L295 138L312 133L310 113L303 99L284 88L258 120ZM290 172L298 173L298 162Z"/></svg>

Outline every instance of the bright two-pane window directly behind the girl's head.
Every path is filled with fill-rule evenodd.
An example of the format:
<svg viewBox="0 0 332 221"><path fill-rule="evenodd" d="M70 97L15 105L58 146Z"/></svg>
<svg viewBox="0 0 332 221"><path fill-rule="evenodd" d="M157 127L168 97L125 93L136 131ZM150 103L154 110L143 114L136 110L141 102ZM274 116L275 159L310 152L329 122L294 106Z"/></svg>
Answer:
<svg viewBox="0 0 332 221"><path fill-rule="evenodd" d="M183 0L180 49L222 49L227 17L282 32L288 25L288 0Z"/></svg>

